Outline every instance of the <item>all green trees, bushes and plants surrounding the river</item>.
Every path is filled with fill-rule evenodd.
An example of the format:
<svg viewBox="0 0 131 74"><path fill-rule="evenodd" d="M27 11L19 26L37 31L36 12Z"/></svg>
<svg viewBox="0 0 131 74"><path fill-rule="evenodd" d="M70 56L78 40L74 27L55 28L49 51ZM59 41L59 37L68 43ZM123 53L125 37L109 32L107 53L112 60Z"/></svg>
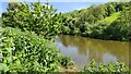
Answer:
<svg viewBox="0 0 131 74"><path fill-rule="evenodd" d="M70 58L59 53L53 36L61 33L128 40L130 12L130 2L92 5L63 14L57 13L49 3L9 3L8 11L2 13L0 27L0 54L3 55L0 71L57 72L61 66L73 65ZM127 71L121 64L109 67L116 67L112 72ZM105 64L95 70L99 67L104 67L104 72L109 71ZM86 67L84 71L88 72Z"/></svg>

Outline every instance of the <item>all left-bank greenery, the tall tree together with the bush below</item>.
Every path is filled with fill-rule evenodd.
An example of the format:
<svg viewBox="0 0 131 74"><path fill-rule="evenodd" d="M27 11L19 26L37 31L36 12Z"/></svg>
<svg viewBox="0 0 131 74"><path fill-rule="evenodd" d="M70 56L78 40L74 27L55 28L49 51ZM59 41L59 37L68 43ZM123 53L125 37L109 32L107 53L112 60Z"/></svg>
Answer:
<svg viewBox="0 0 131 74"><path fill-rule="evenodd" d="M0 72L58 72L73 65L53 45L62 24L55 12L48 3L9 3L0 29Z"/></svg>

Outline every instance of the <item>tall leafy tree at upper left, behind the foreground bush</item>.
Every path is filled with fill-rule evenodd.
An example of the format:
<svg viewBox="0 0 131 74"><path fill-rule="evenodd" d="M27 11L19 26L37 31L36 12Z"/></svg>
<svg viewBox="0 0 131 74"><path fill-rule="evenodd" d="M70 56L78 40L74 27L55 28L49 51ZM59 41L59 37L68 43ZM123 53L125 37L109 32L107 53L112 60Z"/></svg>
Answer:
<svg viewBox="0 0 131 74"><path fill-rule="evenodd" d="M49 38L60 33L61 13L49 3L9 3L8 11L2 13L3 27L17 27L21 30L35 32L37 35Z"/></svg>

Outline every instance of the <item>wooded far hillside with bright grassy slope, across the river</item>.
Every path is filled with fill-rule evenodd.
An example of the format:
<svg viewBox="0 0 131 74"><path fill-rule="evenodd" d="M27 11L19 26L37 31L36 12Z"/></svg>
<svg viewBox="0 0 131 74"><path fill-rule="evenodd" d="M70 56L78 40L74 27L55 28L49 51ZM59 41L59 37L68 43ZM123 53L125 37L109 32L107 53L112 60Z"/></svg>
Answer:
<svg viewBox="0 0 131 74"><path fill-rule="evenodd" d="M131 2L110 2L64 13L63 34L129 40Z"/></svg>

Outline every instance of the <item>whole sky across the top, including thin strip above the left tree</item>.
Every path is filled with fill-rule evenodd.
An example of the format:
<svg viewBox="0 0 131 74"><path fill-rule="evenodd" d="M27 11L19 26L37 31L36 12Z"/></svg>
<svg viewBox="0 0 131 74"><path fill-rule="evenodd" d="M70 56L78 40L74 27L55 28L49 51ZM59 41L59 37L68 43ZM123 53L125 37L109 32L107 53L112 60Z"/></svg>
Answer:
<svg viewBox="0 0 131 74"><path fill-rule="evenodd" d="M7 11L8 2L23 2L25 0L0 0L0 16ZM36 2L38 0L26 0L26 2ZM112 0L40 0L40 2L50 2L58 12L70 12L73 10L86 9L92 4L103 4Z"/></svg>

